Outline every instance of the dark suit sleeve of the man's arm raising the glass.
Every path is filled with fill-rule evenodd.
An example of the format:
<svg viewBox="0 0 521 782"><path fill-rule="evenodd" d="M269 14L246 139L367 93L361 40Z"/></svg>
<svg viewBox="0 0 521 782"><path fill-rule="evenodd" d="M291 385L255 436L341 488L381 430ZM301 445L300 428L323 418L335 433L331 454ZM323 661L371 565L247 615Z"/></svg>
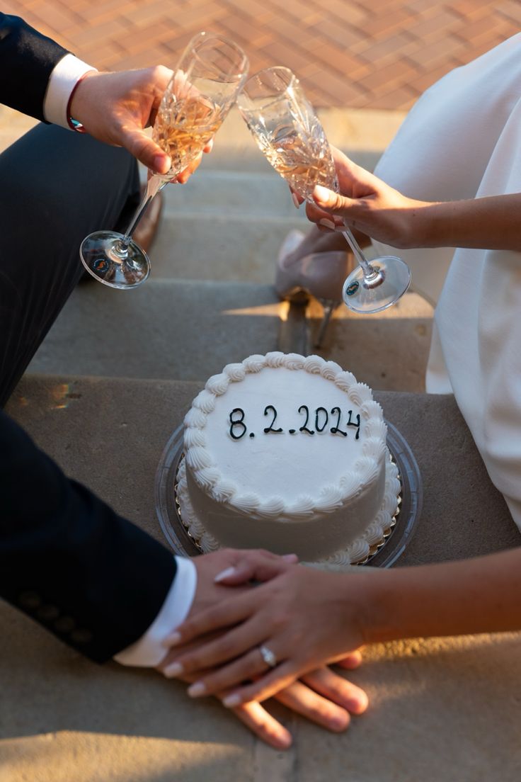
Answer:
<svg viewBox="0 0 521 782"><path fill-rule="evenodd" d="M48 80L67 53L20 16L0 13L0 103L45 121Z"/></svg>

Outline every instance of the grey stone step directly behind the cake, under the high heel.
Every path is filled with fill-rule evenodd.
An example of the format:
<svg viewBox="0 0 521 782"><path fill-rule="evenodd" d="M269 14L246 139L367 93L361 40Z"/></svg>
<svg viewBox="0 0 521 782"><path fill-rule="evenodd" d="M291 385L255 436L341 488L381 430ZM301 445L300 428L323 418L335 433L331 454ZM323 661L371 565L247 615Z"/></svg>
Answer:
<svg viewBox="0 0 521 782"><path fill-rule="evenodd" d="M290 307L269 285L149 279L126 292L93 281L73 293L29 371L204 381L283 350L319 353L375 389L423 391L431 315L414 293L377 315L341 305L317 348L319 303Z"/></svg>

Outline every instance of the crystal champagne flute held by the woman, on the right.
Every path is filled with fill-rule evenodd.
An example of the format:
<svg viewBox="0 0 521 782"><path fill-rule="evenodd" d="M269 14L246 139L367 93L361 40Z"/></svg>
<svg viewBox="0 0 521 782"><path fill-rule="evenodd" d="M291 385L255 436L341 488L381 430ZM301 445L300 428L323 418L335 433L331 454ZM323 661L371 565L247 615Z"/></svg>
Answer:
<svg viewBox="0 0 521 782"><path fill-rule="evenodd" d="M250 77L237 106L259 149L291 188L310 203L315 185L338 192L330 145L297 77L283 66ZM342 231L358 266L344 282L344 302L355 312L380 312L409 288L409 267L396 256L369 262L348 228Z"/></svg>

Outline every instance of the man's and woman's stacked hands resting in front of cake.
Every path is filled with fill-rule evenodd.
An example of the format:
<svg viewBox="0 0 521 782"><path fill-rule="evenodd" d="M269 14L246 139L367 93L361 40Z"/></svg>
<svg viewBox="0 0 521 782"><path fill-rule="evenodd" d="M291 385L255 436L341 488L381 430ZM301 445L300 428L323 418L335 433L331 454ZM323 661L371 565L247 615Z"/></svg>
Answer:
<svg viewBox="0 0 521 782"><path fill-rule="evenodd" d="M225 550L194 562L198 594L187 621L166 640L170 651L159 666L166 676L191 681L194 697L217 695L276 746L287 736L267 712L262 716L271 720L264 725L270 726L269 737L251 723L265 698L275 696L330 730L343 730L348 712L365 711L365 692L323 667L339 662L352 669L361 660L355 650L364 639L346 610L344 576L266 551ZM348 578L358 583L360 576ZM252 588L252 580L264 583ZM259 652L262 644L276 655L277 667L268 669Z"/></svg>

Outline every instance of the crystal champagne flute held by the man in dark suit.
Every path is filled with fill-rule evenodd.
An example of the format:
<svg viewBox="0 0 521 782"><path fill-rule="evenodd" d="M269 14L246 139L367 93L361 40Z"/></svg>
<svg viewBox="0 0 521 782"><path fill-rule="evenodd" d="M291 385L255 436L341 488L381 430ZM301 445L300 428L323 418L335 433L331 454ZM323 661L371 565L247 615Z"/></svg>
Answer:
<svg viewBox="0 0 521 782"><path fill-rule="evenodd" d="M242 49L219 35L199 33L191 39L166 88L152 138L170 155L166 174L149 174L145 196L125 234L95 231L80 246L84 267L111 288L130 289L150 274L147 253L132 239L156 193L177 177L215 135L248 74Z"/></svg>

